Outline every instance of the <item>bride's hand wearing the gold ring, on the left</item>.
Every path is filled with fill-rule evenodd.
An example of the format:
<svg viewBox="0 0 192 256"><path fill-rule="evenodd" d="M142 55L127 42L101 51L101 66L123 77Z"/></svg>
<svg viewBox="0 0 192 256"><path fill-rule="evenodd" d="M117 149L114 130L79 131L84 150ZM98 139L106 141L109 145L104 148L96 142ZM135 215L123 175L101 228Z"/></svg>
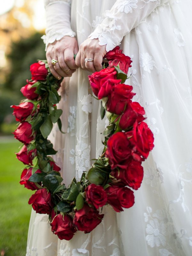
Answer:
<svg viewBox="0 0 192 256"><path fill-rule="evenodd" d="M48 44L46 58L52 75L61 77L71 76L78 68L75 64L74 54L78 52L78 44L75 37L64 36L59 41ZM58 62L53 66L51 60Z"/></svg>

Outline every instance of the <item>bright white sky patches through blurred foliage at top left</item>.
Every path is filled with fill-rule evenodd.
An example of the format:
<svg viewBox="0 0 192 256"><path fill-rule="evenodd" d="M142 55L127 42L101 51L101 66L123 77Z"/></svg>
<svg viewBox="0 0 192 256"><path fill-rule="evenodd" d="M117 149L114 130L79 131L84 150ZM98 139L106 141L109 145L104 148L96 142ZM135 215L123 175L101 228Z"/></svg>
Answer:
<svg viewBox="0 0 192 256"><path fill-rule="evenodd" d="M0 15L9 11L14 5L21 7L24 4L24 1L27 0L8 0L8 1L0 1ZM33 17L33 26L37 30L41 30L45 28L45 11L44 11L44 0L36 0L31 5L31 8L34 10ZM29 20L24 13L17 12L15 16L18 20L21 21L24 27L29 27Z"/></svg>

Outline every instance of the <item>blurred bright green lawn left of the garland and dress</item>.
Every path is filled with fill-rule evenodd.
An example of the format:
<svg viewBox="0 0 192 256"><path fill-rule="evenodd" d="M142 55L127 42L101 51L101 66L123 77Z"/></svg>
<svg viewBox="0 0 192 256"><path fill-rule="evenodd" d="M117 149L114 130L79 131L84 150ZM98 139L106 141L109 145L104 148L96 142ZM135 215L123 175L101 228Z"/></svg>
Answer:
<svg viewBox="0 0 192 256"><path fill-rule="evenodd" d="M21 143L0 138L0 252L5 256L25 256L33 191L20 185L24 164L16 159Z"/></svg>

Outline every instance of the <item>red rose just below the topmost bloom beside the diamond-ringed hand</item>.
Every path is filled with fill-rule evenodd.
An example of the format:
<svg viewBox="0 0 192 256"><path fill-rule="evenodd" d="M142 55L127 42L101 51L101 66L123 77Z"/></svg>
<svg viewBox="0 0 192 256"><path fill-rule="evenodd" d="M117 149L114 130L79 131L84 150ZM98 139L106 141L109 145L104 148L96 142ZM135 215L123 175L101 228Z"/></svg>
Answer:
<svg viewBox="0 0 192 256"><path fill-rule="evenodd" d="M128 73L130 67L132 67L132 60L129 56L125 56L124 53L114 53L112 60L109 61L108 68L119 65L119 68L125 73Z"/></svg>

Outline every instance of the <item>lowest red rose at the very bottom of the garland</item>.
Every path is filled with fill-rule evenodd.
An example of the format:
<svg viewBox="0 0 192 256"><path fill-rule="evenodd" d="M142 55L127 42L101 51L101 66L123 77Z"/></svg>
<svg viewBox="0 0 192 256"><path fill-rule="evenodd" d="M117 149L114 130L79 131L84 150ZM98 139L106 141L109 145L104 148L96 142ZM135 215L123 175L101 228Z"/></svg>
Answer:
<svg viewBox="0 0 192 256"><path fill-rule="evenodd" d="M52 232L59 237L60 240L70 240L77 231L73 226L73 218L70 215L58 214L50 223Z"/></svg>

